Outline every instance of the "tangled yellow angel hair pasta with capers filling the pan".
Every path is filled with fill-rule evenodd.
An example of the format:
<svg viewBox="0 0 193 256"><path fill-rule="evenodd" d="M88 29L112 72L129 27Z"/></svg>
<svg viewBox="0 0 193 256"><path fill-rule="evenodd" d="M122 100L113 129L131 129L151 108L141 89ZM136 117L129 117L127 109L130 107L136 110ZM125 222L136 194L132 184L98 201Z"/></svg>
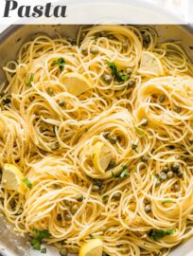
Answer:
<svg viewBox="0 0 193 256"><path fill-rule="evenodd" d="M193 234L193 65L178 43L151 27L80 27L76 43L27 42L4 70L0 164L30 182L0 187L16 231L48 230L75 253L99 238L117 256L167 255ZM68 73L91 86L70 93Z"/></svg>

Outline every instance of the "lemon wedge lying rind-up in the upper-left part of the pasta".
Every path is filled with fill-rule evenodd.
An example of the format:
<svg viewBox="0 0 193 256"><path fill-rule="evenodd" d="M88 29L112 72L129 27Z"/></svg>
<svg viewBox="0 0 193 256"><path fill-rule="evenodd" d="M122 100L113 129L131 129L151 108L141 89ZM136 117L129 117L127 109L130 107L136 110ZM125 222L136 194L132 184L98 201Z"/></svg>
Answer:
<svg viewBox="0 0 193 256"><path fill-rule="evenodd" d="M78 73L67 73L63 75L61 82L66 86L68 92L74 96L79 96L92 87L92 83Z"/></svg>

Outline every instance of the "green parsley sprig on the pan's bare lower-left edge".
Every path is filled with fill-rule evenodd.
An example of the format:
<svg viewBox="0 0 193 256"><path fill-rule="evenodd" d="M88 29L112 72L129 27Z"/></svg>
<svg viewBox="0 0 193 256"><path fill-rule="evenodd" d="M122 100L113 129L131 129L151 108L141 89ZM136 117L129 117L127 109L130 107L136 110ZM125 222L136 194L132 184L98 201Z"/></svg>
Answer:
<svg viewBox="0 0 193 256"><path fill-rule="evenodd" d="M31 240L31 246L36 250L41 250L41 252L43 250L42 253L45 253L46 249L45 248L41 249L41 244L44 238L50 238L51 236L48 229L44 229L44 230L33 229L33 230L36 233L36 237Z"/></svg>

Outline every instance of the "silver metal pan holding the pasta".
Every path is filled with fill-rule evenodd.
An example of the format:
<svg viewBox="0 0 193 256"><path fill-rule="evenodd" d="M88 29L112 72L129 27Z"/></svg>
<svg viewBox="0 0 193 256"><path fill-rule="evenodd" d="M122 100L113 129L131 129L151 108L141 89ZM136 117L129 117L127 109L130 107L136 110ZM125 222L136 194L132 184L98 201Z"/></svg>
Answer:
<svg viewBox="0 0 193 256"><path fill-rule="evenodd" d="M182 46L189 59L193 61L193 27L192 26L167 26L159 25L154 27L159 35L160 42L181 41ZM78 25L27 25L11 26L0 34L0 82L5 80L2 66L9 60L16 60L17 53L27 40L38 34L46 34L52 38L60 33L62 36L75 38L79 30ZM43 255L30 249L27 243L28 237L17 235L3 216L0 215L0 256L23 256ZM192 256L193 238L175 248L169 256ZM46 256L58 256L59 252L48 247Z"/></svg>

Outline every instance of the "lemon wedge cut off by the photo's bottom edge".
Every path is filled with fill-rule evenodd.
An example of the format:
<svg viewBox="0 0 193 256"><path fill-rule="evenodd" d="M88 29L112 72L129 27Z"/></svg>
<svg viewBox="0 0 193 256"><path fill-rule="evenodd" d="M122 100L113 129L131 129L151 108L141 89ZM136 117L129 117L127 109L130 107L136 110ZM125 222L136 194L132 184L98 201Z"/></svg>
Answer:
<svg viewBox="0 0 193 256"><path fill-rule="evenodd" d="M102 241L93 239L79 249L79 256L102 256Z"/></svg>

